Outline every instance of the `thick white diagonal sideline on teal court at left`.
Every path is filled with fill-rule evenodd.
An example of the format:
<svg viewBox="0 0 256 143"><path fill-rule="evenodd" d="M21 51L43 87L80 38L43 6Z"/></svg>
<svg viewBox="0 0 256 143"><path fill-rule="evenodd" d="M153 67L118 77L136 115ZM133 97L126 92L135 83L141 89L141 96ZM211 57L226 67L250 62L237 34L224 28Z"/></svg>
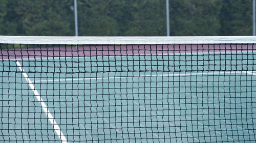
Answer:
<svg viewBox="0 0 256 143"><path fill-rule="evenodd" d="M34 92L34 95L37 98L37 100L39 101L42 110L45 111L46 116L48 117L48 120L51 122L53 129L58 134L59 139L61 140L62 143L68 143L66 137L63 135L62 131L60 130L58 124L56 123L55 119L53 118L53 116L52 116L51 112L49 111L48 107L46 106L45 102L42 100L40 94L35 89L34 85L32 84L31 80L29 79L27 73L22 68L22 65L20 65L20 63L18 61L16 61L16 64L17 64L19 70L22 72L25 79L27 80L30 89Z"/></svg>

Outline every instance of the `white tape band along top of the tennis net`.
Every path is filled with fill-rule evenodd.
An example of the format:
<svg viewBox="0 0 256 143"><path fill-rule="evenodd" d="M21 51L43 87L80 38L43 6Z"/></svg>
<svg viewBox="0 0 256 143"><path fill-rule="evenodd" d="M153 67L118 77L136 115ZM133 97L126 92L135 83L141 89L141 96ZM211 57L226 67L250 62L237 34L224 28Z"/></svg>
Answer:
<svg viewBox="0 0 256 143"><path fill-rule="evenodd" d="M2 44L232 44L256 43L256 36L56 37L0 36Z"/></svg>

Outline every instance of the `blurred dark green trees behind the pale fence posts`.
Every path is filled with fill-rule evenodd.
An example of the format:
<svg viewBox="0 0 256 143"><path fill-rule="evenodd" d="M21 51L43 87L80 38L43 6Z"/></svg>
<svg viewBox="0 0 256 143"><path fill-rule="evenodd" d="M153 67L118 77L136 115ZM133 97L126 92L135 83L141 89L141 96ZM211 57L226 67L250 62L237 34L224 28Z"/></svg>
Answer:
<svg viewBox="0 0 256 143"><path fill-rule="evenodd" d="M0 0L0 35L74 36L73 0ZM171 36L252 35L252 0L170 0ZM79 36L166 36L165 0L77 0Z"/></svg>

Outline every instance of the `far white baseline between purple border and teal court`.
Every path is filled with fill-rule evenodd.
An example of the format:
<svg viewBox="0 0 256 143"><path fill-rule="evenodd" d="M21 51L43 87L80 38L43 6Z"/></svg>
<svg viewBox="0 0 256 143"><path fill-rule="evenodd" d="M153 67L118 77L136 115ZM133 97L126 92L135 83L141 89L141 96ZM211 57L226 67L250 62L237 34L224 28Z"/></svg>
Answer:
<svg viewBox="0 0 256 143"><path fill-rule="evenodd" d="M225 49L223 49L225 50ZM83 51L83 50L81 50ZM96 50L95 50L96 51ZM112 50L114 51L114 50ZM162 50L154 50L154 51L162 51ZM167 50L166 50L167 51ZM174 50L173 50L174 51ZM186 50L183 50L186 51ZM187 50L189 51L189 50ZM196 50L192 50L192 51L196 51ZM207 50L206 50L207 51ZM0 59L0 61L22 61L22 60L48 60L48 59L53 59L53 60L60 60L60 59L72 59L72 58L77 58L77 59L91 59L91 58L98 58L98 57L108 57L108 58L112 58L112 57L121 57L121 56L146 56L146 55L208 55L208 54L219 54L219 55L225 55L225 54L231 54L231 53L241 53L241 55L243 53L248 54L248 53L254 53L256 50L239 50L239 51L214 51L214 52L189 52L189 53L150 53L150 54L133 54L133 55L95 55L95 56L50 56L50 57L40 57L40 58L15 58L15 59ZM253 55L253 54L250 54ZM9 56L9 55L0 55L0 56ZM15 56L15 55L13 55ZM16 55L17 56L17 55ZM36 55L36 56L41 56L41 55ZM78 60L79 61L79 60ZM58 61L58 62L66 62L66 61Z"/></svg>

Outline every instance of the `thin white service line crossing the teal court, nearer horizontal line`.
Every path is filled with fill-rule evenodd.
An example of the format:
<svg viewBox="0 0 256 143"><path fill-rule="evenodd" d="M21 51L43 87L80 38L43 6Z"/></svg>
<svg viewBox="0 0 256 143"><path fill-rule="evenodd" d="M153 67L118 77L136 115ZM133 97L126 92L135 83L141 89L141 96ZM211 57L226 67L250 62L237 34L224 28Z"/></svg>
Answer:
<svg viewBox="0 0 256 143"><path fill-rule="evenodd" d="M196 72L196 73L174 73L174 74L154 74L154 75L138 75L138 76L116 76L116 77L88 77L88 78L58 78L58 79L46 79L35 80L38 82L53 82L53 81L74 81L74 80L94 80L94 79L113 79L113 78L133 78L133 77L154 77L154 76L198 76L198 75L218 75L218 74L231 74L231 73L245 73L247 71L217 71L217 72ZM252 71L253 72L253 71Z"/></svg>

